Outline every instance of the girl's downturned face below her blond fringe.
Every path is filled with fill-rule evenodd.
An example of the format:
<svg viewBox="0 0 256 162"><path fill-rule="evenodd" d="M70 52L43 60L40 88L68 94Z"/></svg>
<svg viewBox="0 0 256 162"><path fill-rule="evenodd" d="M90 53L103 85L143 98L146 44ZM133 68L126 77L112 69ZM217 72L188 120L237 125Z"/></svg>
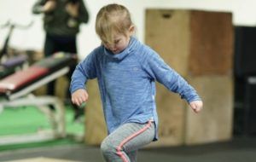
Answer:
<svg viewBox="0 0 256 162"><path fill-rule="evenodd" d="M130 35L129 34L114 34L113 35L113 43L103 43L106 49L109 49L113 52L113 54L119 54L122 52L129 44Z"/></svg>

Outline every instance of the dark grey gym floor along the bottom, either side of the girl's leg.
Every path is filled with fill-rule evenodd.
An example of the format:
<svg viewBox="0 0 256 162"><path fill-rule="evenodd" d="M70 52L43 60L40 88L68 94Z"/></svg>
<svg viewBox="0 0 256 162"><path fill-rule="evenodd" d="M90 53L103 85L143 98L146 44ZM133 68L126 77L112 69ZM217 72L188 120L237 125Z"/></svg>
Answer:
<svg viewBox="0 0 256 162"><path fill-rule="evenodd" d="M98 147L84 145L32 148L0 153L0 161L45 157L84 162L101 162ZM26 161L26 160L23 160ZM27 160L28 161L28 160ZM230 142L171 148L143 148L138 162L255 162L256 137L240 137Z"/></svg>

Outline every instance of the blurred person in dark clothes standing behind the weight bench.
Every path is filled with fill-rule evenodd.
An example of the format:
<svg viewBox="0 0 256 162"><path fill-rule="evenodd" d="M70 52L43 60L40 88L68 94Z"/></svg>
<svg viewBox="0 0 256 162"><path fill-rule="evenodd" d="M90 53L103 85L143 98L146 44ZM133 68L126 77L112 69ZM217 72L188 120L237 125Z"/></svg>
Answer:
<svg viewBox="0 0 256 162"><path fill-rule="evenodd" d="M77 55L77 35L79 26L87 23L89 13L83 0L38 0L32 7L33 14L44 14L44 56L56 52L66 52ZM75 65L71 67L67 78L70 80ZM48 84L48 95L55 95L55 81ZM67 101L70 95L67 89ZM74 120L84 113L84 110L73 105Z"/></svg>

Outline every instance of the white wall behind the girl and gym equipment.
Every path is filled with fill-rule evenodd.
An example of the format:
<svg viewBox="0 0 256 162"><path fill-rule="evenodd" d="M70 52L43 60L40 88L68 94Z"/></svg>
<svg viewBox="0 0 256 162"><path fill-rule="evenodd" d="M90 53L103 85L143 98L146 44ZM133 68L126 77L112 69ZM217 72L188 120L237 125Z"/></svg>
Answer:
<svg viewBox="0 0 256 162"><path fill-rule="evenodd" d="M7 20L26 25L33 20L28 30L15 29L10 45L19 49L43 49L44 30L42 15L32 14L32 5L36 0L0 0L0 25ZM99 45L94 24L97 11L107 3L124 4L130 11L137 26L137 38L144 41L144 11L148 8L157 9L203 9L227 11L233 13L233 23L237 26L256 25L255 0L84 0L90 12L90 21L81 26L79 33L79 56L84 58L90 50ZM8 32L0 28L0 47Z"/></svg>

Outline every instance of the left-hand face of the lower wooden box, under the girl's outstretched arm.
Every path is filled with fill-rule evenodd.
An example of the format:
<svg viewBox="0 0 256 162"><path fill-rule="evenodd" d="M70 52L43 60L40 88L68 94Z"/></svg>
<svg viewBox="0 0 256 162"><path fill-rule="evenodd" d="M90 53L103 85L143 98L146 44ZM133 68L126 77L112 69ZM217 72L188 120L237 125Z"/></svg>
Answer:
<svg viewBox="0 0 256 162"><path fill-rule="evenodd" d="M159 141L152 142L150 147L177 146L183 144L183 116L185 101L179 95L166 90L166 87L156 84L156 105L159 115Z"/></svg>

